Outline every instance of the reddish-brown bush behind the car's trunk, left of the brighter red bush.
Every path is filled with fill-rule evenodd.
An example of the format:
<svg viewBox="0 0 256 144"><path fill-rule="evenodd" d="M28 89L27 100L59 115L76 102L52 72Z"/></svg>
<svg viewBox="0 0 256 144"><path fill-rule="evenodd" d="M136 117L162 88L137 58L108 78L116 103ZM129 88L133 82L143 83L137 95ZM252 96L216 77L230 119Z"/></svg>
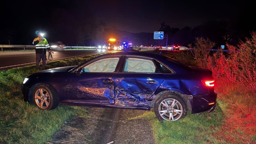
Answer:
<svg viewBox="0 0 256 144"><path fill-rule="evenodd" d="M188 47L191 49L191 53L196 58L198 66L201 68L207 68L207 59L209 57L210 50L215 46L214 42L211 42L208 38L204 39L202 37L196 38L195 47L191 44Z"/></svg>

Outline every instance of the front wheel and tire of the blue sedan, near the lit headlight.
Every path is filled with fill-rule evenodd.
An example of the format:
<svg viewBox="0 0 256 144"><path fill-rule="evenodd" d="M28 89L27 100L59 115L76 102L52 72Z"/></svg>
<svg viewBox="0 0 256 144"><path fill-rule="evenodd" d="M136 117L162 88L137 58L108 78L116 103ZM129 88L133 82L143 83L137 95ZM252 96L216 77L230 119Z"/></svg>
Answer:
<svg viewBox="0 0 256 144"><path fill-rule="evenodd" d="M59 99L54 90L47 84L40 84L33 91L33 102L40 109L52 110L59 105Z"/></svg>

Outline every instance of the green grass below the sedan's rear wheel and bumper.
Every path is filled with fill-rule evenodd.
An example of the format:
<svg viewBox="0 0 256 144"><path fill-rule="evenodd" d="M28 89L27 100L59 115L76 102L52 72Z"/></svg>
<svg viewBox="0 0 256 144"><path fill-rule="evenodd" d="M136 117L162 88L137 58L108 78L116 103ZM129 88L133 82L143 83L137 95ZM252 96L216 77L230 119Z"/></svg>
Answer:
<svg viewBox="0 0 256 144"><path fill-rule="evenodd" d="M223 110L226 109L226 103L217 100L216 109L207 114L190 114L178 121L160 122L155 118L152 111L145 112L141 116L133 119L149 119L153 126L153 133L156 143L218 143L211 135L218 130L218 127L224 122Z"/></svg>

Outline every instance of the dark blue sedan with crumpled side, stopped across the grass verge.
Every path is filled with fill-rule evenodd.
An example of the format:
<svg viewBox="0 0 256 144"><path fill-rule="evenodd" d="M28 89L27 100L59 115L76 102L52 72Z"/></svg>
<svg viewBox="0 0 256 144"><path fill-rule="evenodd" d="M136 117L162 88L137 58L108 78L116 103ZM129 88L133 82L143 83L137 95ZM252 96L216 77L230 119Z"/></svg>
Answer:
<svg viewBox="0 0 256 144"><path fill-rule="evenodd" d="M143 52L106 53L82 63L43 70L23 81L24 100L41 109L59 104L150 110L175 121L211 112L217 94L212 72Z"/></svg>

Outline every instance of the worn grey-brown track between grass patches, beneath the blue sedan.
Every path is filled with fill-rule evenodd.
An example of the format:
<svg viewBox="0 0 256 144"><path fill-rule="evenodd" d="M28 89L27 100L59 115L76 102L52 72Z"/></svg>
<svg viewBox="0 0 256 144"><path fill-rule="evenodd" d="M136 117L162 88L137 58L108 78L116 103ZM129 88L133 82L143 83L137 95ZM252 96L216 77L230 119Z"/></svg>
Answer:
<svg viewBox="0 0 256 144"><path fill-rule="evenodd" d="M150 121L133 119L143 110L88 108L88 117L73 117L48 143L155 143Z"/></svg>

